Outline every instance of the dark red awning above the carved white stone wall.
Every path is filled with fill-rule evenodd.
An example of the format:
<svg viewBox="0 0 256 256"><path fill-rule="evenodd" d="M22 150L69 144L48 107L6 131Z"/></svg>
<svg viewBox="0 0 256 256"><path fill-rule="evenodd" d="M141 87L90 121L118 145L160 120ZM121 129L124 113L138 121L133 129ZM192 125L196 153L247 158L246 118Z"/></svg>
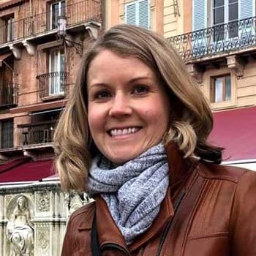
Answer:
<svg viewBox="0 0 256 256"><path fill-rule="evenodd" d="M54 174L53 160L33 161L29 157L0 165L0 183L40 181Z"/></svg>

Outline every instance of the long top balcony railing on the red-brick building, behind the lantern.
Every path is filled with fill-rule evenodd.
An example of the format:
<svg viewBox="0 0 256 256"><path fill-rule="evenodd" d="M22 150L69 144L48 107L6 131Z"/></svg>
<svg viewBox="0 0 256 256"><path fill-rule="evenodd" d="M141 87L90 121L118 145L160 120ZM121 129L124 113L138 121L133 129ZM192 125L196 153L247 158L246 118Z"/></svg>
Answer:
<svg viewBox="0 0 256 256"><path fill-rule="evenodd" d="M66 5L62 9L59 11L59 15L67 17L67 29L89 20L101 22L102 19L100 0L83 0ZM0 26L0 44L25 39L26 37L36 37L39 34L53 31L57 29L57 20L54 10L13 20L12 23Z"/></svg>

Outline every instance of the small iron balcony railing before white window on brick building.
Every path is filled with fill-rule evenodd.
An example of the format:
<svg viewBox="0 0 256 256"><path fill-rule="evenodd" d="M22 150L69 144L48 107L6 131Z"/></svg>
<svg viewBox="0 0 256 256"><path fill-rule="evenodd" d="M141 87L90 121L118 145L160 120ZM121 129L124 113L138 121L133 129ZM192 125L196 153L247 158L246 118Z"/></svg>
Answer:
<svg viewBox="0 0 256 256"><path fill-rule="evenodd" d="M68 72L49 72L37 75L39 98L54 97L67 94Z"/></svg>

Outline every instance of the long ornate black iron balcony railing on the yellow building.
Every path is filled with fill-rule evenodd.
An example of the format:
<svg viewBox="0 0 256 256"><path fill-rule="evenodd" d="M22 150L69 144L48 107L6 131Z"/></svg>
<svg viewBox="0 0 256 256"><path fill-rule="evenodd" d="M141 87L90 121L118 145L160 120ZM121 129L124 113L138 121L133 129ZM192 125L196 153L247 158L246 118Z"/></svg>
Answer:
<svg viewBox="0 0 256 256"><path fill-rule="evenodd" d="M184 61L256 45L256 17L168 38Z"/></svg>

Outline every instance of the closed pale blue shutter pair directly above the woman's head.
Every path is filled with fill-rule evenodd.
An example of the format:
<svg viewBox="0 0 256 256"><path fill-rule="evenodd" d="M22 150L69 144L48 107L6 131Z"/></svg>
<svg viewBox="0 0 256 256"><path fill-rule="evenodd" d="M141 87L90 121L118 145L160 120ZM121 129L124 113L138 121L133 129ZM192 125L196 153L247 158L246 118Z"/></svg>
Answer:
<svg viewBox="0 0 256 256"><path fill-rule="evenodd" d="M148 0L132 1L125 5L125 23L149 29L149 12Z"/></svg>

